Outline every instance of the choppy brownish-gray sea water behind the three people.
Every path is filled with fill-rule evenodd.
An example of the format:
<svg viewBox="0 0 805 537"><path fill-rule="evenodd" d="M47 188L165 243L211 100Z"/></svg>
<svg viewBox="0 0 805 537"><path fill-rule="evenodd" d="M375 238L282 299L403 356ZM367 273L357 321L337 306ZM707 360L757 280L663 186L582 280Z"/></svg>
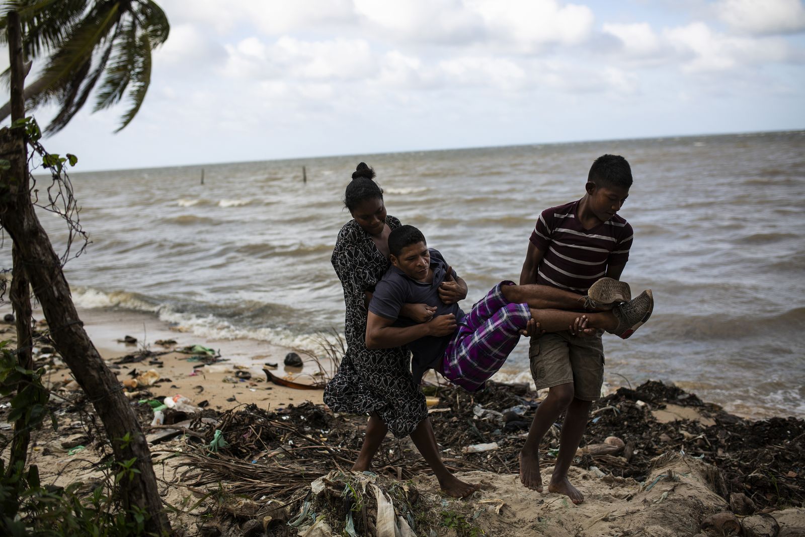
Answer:
<svg viewBox="0 0 805 537"><path fill-rule="evenodd" d="M315 346L312 334L343 328L329 257L357 162L378 172L388 212L466 279L469 308L518 279L539 212L580 198L604 153L634 175L622 278L656 301L628 341L605 336L606 380L662 379L743 415L805 416L805 131L76 173L92 244L65 271L85 308ZM60 222L40 218L63 244ZM529 378L527 341L501 378Z"/></svg>

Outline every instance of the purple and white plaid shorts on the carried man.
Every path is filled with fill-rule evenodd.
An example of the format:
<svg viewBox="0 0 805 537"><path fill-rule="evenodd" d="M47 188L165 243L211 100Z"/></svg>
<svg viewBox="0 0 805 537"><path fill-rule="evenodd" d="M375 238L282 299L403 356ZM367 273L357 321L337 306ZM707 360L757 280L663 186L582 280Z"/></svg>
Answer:
<svg viewBox="0 0 805 537"><path fill-rule="evenodd" d="M528 304L512 304L498 283L473 304L444 351L444 377L465 390L477 391L497 372L520 340L520 331L531 318Z"/></svg>

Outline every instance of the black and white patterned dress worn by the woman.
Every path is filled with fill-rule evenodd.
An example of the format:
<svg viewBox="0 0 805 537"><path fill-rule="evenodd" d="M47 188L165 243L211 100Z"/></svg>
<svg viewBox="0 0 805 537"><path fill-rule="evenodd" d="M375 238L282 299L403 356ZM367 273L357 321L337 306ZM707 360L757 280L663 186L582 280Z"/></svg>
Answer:
<svg viewBox="0 0 805 537"><path fill-rule="evenodd" d="M387 216L386 224L394 229L400 221ZM324 389L324 403L336 412L377 412L394 436L410 435L427 418L424 395L411 377L410 353L405 347L370 350L365 345L364 291L374 291L389 262L354 220L338 233L331 261L344 287L347 352Z"/></svg>

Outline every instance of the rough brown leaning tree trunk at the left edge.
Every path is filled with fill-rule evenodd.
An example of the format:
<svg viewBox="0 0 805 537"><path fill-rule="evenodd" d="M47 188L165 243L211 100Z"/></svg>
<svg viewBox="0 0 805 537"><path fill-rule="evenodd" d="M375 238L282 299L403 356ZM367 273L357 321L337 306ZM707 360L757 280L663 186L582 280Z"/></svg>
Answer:
<svg viewBox="0 0 805 537"><path fill-rule="evenodd" d="M9 27L12 19L10 17ZM14 26L19 31L19 19ZM14 69L15 60L19 58L14 58L14 46L10 45L9 50ZM17 92L16 97L21 98L19 89ZM14 96L12 102L17 104ZM16 113L16 106L14 108ZM134 478L123 477L118 483L126 515L130 516L133 509L141 510L148 515L146 531L170 535L171 526L157 489L146 438L122 393L118 378L106 367L83 328L60 259L36 217L29 192L27 144L23 137L22 129L0 130L0 159L10 161L9 169L0 169L0 224L14 242L14 251L19 254L14 262L16 264L19 259L25 268L47 319L51 339L101 418L115 461L135 460L131 468L139 473ZM124 441L127 434L130 440Z"/></svg>

